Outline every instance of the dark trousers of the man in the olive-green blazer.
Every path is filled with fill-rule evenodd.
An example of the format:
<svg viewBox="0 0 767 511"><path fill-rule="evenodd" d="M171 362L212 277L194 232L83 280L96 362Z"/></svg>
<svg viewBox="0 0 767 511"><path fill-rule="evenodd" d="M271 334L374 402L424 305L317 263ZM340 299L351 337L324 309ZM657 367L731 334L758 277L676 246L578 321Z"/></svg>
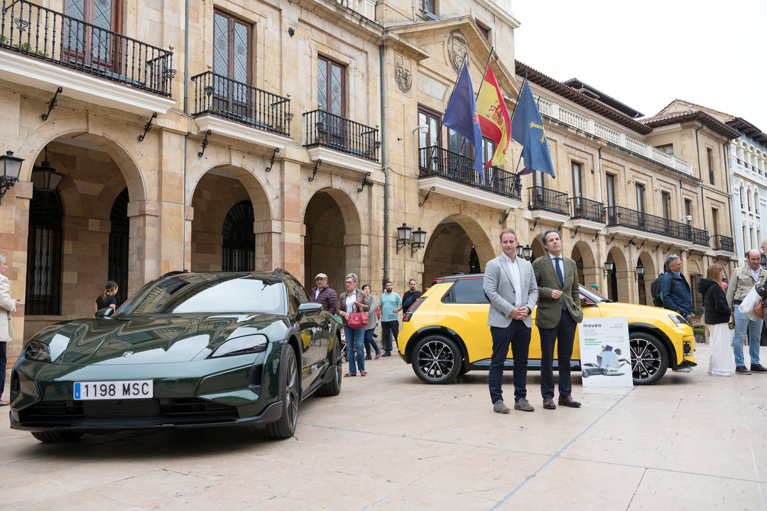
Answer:
<svg viewBox="0 0 767 511"><path fill-rule="evenodd" d="M554 397L554 343L557 341L559 395L568 396L572 391L570 359L577 328L578 323L575 323L567 310L562 311L559 323L554 328L538 328L541 335L541 395L544 398Z"/></svg>

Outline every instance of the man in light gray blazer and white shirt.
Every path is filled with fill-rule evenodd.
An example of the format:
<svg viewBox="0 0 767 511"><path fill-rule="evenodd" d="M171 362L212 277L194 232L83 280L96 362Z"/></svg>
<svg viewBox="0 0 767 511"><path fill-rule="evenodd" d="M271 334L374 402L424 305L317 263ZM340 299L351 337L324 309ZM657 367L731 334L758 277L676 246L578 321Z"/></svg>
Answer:
<svg viewBox="0 0 767 511"><path fill-rule="evenodd" d="M508 414L503 404L501 384L509 344L514 356L514 408L533 411L527 401L527 363L532 319L530 313L538 301L535 274L528 261L517 257L517 234L512 229L501 231L503 254L491 260L485 268L482 288L490 300L487 324L492 335L492 359L488 384L492 408Z"/></svg>

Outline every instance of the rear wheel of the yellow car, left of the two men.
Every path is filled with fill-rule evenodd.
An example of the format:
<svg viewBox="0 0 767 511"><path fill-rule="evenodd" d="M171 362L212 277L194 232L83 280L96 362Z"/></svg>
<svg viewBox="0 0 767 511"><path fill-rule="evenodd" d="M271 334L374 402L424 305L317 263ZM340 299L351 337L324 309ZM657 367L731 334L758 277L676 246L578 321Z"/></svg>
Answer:
<svg viewBox="0 0 767 511"><path fill-rule="evenodd" d="M413 349L413 372L426 383L452 382L461 371L462 362L456 342L444 336L426 336Z"/></svg>

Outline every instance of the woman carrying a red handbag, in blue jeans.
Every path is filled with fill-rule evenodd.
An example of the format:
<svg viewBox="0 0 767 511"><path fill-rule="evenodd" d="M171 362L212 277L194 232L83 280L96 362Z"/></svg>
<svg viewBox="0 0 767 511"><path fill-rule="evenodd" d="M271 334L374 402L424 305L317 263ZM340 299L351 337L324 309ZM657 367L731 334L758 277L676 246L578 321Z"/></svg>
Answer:
<svg viewBox="0 0 767 511"><path fill-rule="evenodd" d="M346 355L349 359L349 372L344 376L367 376L365 371L365 328L367 327L367 311L370 301L363 290L357 290L357 275L348 274L344 278L346 290L338 296L336 314L344 321L344 336L346 336Z"/></svg>

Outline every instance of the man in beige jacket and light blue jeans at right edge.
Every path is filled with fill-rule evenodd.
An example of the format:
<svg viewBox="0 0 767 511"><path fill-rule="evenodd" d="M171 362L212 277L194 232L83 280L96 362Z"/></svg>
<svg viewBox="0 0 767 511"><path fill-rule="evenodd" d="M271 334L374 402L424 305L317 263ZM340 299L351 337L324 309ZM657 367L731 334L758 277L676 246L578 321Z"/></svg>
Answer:
<svg viewBox="0 0 767 511"><path fill-rule="evenodd" d="M732 342L732 352L735 353L735 372L738 375L750 375L752 372L767 372L767 368L759 363L759 341L762 337L762 318L750 320L740 312L740 303L746 298L756 284L764 284L767 280L767 270L760 262L762 254L751 250L746 254L746 264L736 269L727 283L727 304L734 311L735 339ZM749 331L749 358L751 370L746 367L743 358L743 342L746 341L746 329Z"/></svg>

